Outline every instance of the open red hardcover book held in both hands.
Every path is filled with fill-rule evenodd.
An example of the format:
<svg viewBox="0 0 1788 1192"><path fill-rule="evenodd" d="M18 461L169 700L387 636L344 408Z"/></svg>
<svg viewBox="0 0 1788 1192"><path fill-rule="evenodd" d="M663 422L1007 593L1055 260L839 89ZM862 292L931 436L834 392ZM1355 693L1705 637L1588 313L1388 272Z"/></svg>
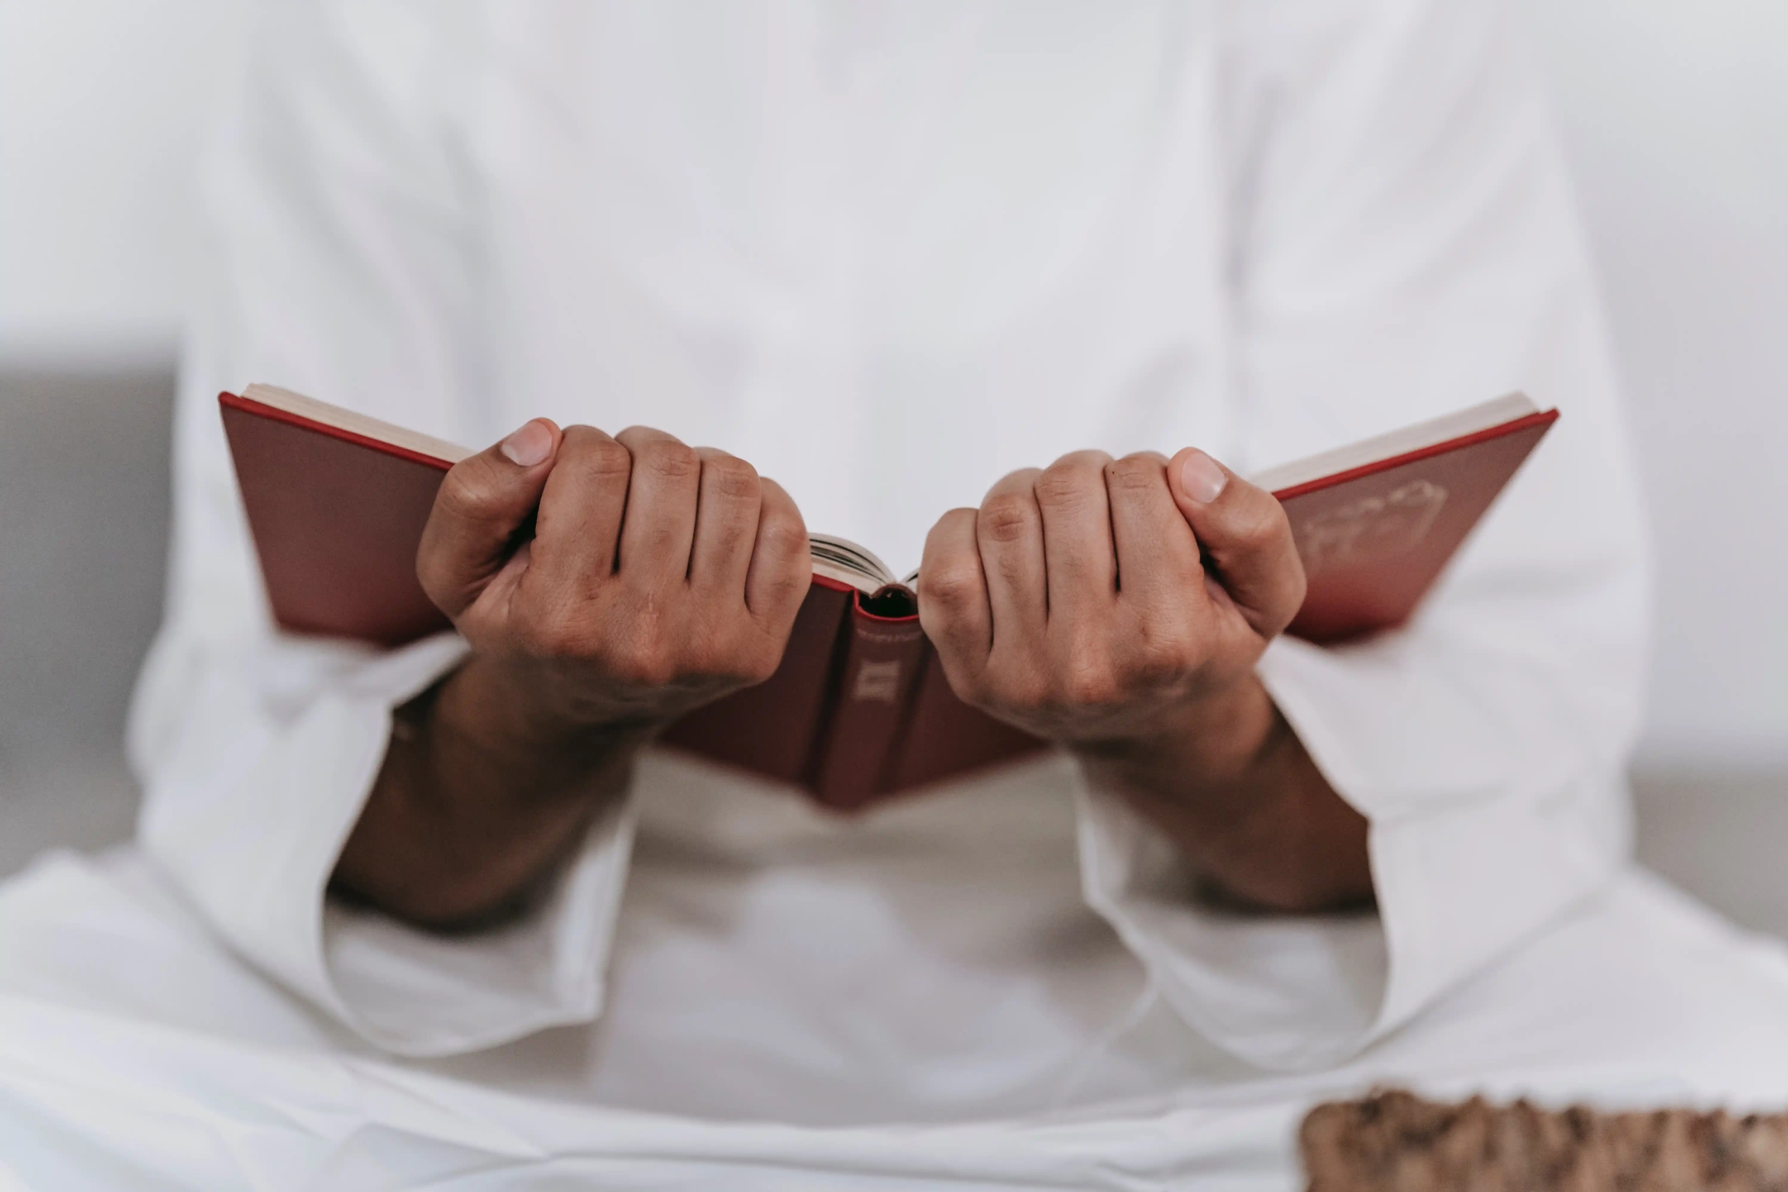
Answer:
<svg viewBox="0 0 1788 1192"><path fill-rule="evenodd" d="M402 645L447 627L415 559L467 449L272 386L218 404L283 629ZM1339 642L1402 624L1554 420L1516 393L1252 477L1286 506L1309 574L1291 633ZM781 667L665 743L840 810L1044 749L949 690L915 575L896 581L842 538L812 541Z"/></svg>

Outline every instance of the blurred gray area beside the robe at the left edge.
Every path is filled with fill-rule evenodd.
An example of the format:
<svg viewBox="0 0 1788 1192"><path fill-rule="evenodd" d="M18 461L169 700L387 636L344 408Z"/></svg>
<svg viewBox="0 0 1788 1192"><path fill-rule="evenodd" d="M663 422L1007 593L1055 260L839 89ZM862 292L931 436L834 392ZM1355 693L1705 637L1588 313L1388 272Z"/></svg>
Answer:
<svg viewBox="0 0 1788 1192"><path fill-rule="evenodd" d="M131 833L123 718L161 618L172 370L0 370L0 874Z"/></svg>

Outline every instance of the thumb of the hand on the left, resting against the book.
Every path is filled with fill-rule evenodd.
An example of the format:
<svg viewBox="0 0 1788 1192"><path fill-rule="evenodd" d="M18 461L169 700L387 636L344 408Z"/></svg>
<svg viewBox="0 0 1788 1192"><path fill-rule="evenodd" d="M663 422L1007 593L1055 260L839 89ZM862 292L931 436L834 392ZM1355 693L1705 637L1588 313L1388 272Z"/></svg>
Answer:
<svg viewBox="0 0 1788 1192"><path fill-rule="evenodd" d="M463 613L513 554L560 440L558 425L535 418L447 472L417 547L417 579L449 617Z"/></svg>

